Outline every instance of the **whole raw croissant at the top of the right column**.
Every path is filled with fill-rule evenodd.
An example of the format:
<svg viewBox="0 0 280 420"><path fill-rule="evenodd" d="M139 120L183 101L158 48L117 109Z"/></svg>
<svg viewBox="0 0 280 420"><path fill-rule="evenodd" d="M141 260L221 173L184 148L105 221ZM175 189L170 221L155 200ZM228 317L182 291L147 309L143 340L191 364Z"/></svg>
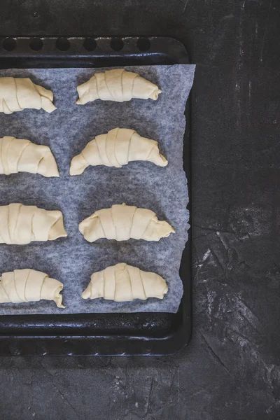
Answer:
<svg viewBox="0 0 280 420"><path fill-rule="evenodd" d="M102 99L102 101L125 102L132 98L153 99L156 101L162 92L157 85L132 71L125 69L106 70L77 87L78 105Z"/></svg>

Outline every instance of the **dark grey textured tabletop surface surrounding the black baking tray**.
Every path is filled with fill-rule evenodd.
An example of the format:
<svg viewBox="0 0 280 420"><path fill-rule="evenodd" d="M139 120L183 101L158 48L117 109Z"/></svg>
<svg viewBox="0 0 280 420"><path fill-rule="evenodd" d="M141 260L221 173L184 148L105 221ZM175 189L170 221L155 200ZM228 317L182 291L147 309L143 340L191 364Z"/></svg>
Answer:
<svg viewBox="0 0 280 420"><path fill-rule="evenodd" d="M2 358L0 418L276 420L277 0L1 1L1 35L164 35L193 87L193 339L169 358Z"/></svg>

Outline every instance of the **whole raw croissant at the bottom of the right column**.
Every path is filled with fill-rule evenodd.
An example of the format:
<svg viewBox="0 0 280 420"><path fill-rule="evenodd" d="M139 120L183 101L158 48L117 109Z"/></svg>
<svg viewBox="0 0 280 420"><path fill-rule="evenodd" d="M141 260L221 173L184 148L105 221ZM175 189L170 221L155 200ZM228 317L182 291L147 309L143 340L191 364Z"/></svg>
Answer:
<svg viewBox="0 0 280 420"><path fill-rule="evenodd" d="M148 297L163 299L168 287L165 279L152 272L144 272L125 263L113 265L93 273L90 283L82 293L83 299L104 299L126 302Z"/></svg>

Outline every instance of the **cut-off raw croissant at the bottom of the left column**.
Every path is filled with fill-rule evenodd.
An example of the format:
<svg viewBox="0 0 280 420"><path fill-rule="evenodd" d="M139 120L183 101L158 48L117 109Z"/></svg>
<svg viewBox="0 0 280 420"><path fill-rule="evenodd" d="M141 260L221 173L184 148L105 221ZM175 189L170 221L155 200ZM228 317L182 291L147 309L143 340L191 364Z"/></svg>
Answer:
<svg viewBox="0 0 280 420"><path fill-rule="evenodd" d="M54 300L57 307L64 308L60 292L63 284L50 279L48 274L34 269L15 269L0 277L0 303L38 302Z"/></svg>

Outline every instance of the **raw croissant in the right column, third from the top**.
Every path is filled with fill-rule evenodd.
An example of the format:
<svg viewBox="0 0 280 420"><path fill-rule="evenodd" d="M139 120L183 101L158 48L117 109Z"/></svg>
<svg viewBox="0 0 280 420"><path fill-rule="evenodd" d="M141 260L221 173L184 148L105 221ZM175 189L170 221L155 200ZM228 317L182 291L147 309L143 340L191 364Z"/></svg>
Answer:
<svg viewBox="0 0 280 420"><path fill-rule="evenodd" d="M159 241L169 237L175 230L169 223L159 221L155 213L148 209L137 209L126 204L114 204L111 209L95 211L79 225L79 230L89 242L99 238L144 239Z"/></svg>

